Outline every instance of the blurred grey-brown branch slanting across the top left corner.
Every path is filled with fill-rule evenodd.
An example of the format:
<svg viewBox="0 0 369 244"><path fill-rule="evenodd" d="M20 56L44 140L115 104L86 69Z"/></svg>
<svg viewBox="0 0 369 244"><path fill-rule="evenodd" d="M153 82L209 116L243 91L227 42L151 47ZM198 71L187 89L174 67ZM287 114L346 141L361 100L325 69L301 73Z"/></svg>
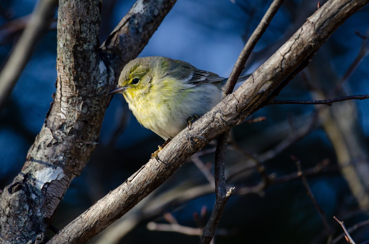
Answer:
<svg viewBox="0 0 369 244"><path fill-rule="evenodd" d="M52 21L58 0L41 0L0 72L0 113L33 50Z"/></svg>

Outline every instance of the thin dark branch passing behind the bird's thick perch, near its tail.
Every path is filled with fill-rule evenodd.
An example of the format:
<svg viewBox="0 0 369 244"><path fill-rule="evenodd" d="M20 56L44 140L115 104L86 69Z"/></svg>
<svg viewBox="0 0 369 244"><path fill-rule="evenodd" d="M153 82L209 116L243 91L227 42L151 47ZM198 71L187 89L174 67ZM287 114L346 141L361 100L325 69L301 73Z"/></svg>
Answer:
<svg viewBox="0 0 369 244"><path fill-rule="evenodd" d="M237 62L230 74L230 77L228 77L227 83L224 85L224 87L222 87L223 98L232 93L237 83L238 77L240 76L242 70L245 68L245 63L247 59L249 58L252 50L255 48L256 43L259 41L263 33L268 28L270 22L272 21L274 15L277 13L283 1L284 0L274 0L272 4L270 4L270 7L261 19L259 25L256 27L255 31L246 42L246 45L238 56ZM219 136L217 149L215 150L215 206L213 212L210 215L208 223L204 227L200 243L210 243L213 239L215 230L217 229L217 226L220 222L220 218L223 214L225 205L227 204L227 201L234 190L234 187L232 187L227 192L225 187L225 151L227 150L229 134L230 131L228 130Z"/></svg>

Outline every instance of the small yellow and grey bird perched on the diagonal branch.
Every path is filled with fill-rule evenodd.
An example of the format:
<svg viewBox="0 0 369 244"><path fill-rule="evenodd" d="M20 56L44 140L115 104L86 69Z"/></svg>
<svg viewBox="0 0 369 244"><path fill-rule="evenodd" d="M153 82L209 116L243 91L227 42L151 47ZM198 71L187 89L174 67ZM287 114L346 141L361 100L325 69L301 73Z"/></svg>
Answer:
<svg viewBox="0 0 369 244"><path fill-rule="evenodd" d="M181 60L139 57L123 68L118 86L108 95L122 93L138 122L168 141L189 118L204 115L222 100L226 81Z"/></svg>

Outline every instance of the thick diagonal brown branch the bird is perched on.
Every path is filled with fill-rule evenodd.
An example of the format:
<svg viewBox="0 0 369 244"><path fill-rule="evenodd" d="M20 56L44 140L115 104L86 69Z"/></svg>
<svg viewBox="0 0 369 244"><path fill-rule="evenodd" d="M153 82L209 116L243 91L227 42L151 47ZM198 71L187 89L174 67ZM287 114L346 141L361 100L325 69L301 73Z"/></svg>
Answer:
<svg viewBox="0 0 369 244"><path fill-rule="evenodd" d="M94 234L114 222L154 191L192 154L216 136L241 123L251 111L293 70L327 40L347 18L369 0L328 0L234 93L173 138L159 158L151 159L122 185L109 192L59 231L49 243L86 243Z"/></svg>

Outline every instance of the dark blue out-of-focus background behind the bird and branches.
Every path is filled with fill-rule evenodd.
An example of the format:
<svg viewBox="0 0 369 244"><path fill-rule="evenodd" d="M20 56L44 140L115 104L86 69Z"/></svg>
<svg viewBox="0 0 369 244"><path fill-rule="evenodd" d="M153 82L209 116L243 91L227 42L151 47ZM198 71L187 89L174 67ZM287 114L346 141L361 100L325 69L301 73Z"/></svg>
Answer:
<svg viewBox="0 0 369 244"><path fill-rule="evenodd" d="M134 2L103 1L99 36L101 43ZM178 0L139 56L167 56L180 59L199 69L228 77L245 41L270 3L270 0ZM321 1L321 4L323 3L324 1ZM1 2L0 25L30 14L35 4L36 1L32 0ZM111 12L104 11L106 6ZM256 45L245 73L253 72L261 65L316 8L317 1L286 1ZM340 26L318 51L311 65L288 84L278 99L315 100L324 97L322 94L327 95L327 98L369 94L369 59L366 56L368 52L355 66L355 71L349 79L345 80L342 86L344 89L332 93L335 84L352 65L362 45L362 39L355 35L354 31L362 35L369 34L368 10L368 6L364 7ZM6 33L1 29L0 35L3 36L0 38ZM17 37L18 33L2 42L1 63L6 62ZM0 183L3 187L10 184L21 170L27 150L44 123L46 112L52 102L51 95L55 92L55 60L56 29L51 28L35 47L34 54L15 85L6 108L0 114ZM325 215L337 236L342 231L332 216L341 216L347 225L367 219L368 216L351 194L348 179L341 174L337 156L340 150L332 143L332 138L338 134L355 137L354 140L360 142L362 150L359 156L352 154L351 160L360 158L361 163L367 165L368 105L368 100L362 100L351 102L349 109L342 108L344 112L348 110L351 112L351 119L354 122L350 122L350 126L354 125L355 132L348 130L341 133L337 130L332 135L327 129L329 126L322 121L322 117L319 117L317 121L313 121L314 125L308 132L295 139L293 136L306 126L306 122L311 120L319 106L269 105L254 115L265 116L266 121L244 123L234 129L234 143L230 143L227 167L236 169L238 165L244 167L245 164L249 164L247 162L250 154L257 155L263 159L268 174L274 173L277 178L281 178L296 172L296 166L290 155L299 157L305 169L320 165L324 160L329 161L327 170L313 174L308 177L308 181L311 191L326 211ZM340 105L334 104L332 107L335 106ZM348 115L338 112L335 116L335 121L339 118L345 122ZM289 146L278 151L283 142L289 138ZM347 140L346 142L350 143ZM162 143L159 136L137 123L128 110L123 96L115 95L106 111L99 146L85 170L70 185L55 215L53 225L61 229L111 189L123 183L146 163L152 151ZM237 149L237 146L243 150ZM211 150L213 147L214 144L207 149ZM269 157L273 152L275 155ZM210 165L211 170L213 154L201 156L201 160ZM346 163L352 163L351 160ZM254 186L258 182L260 182L259 174L251 167L251 170L237 175L228 183L247 187ZM149 231L146 223L149 221L167 223L163 219L163 211L149 213L150 208L154 208L152 205L166 201L160 200L165 193L181 192L206 183L206 178L192 162L184 164L152 194L151 198L136 206L137 210L134 213L139 214L139 217L133 213L131 216L127 214L125 219L123 217L121 222L103 231L91 243L197 243L199 240L197 236ZM364 184L365 187L367 186ZM205 206L207 209L205 216L209 216L213 204L214 195L206 194L193 200L168 204L164 209L171 212L180 224L196 227L194 213L200 213ZM145 217L145 214L149 217ZM129 222L132 219L136 222ZM133 229L125 227L124 223L130 223ZM306 189L299 179L270 185L259 194L232 196L220 228L226 230L227 236L218 236L215 239L216 243L324 243L325 240L321 217L307 197ZM355 233L358 243L369 243L368 228ZM51 232L48 234L52 235Z"/></svg>

